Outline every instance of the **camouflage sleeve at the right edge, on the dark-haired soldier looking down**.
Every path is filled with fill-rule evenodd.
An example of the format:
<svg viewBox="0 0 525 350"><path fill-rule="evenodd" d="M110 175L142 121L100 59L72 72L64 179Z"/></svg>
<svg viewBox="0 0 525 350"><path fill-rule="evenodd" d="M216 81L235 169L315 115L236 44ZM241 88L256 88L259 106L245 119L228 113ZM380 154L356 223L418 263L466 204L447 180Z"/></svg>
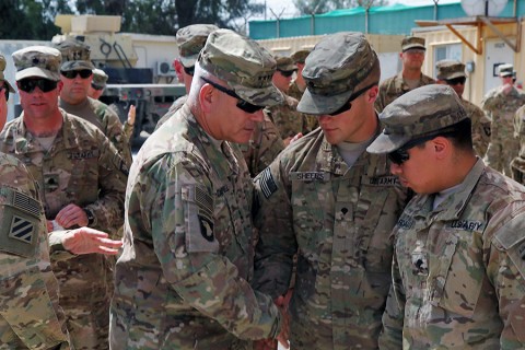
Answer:
<svg viewBox="0 0 525 350"><path fill-rule="evenodd" d="M501 349L525 348L525 207L520 206L517 214L505 213L512 219L494 233L487 262L503 324Z"/></svg>

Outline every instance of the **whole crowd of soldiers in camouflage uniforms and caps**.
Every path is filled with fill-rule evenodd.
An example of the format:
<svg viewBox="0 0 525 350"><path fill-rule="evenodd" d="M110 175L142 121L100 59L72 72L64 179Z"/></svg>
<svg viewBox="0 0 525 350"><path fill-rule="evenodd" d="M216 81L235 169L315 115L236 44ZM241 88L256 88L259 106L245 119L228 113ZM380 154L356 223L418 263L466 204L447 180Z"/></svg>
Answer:
<svg viewBox="0 0 525 350"><path fill-rule="evenodd" d="M0 56L0 349L525 348L512 65L481 109L420 37L381 83L361 33L176 39L187 94L135 159L84 43L13 54L7 124Z"/></svg>

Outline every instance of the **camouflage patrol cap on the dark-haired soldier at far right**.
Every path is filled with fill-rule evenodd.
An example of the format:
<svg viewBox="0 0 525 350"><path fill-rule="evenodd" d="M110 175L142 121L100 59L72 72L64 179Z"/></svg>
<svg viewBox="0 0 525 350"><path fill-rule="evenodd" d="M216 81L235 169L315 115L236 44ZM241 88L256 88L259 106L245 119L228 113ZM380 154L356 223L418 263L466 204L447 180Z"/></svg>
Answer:
<svg viewBox="0 0 525 350"><path fill-rule="evenodd" d="M448 85L424 85L396 98L380 114L383 132L370 153L390 153L408 141L439 135L467 118L462 101Z"/></svg>

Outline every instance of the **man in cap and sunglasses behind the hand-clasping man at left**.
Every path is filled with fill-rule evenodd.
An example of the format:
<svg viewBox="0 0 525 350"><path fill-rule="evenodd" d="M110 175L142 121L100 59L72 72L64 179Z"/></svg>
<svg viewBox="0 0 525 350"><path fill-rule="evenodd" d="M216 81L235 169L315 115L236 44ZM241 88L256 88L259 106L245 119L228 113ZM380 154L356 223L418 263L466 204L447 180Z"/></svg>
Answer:
<svg viewBox="0 0 525 350"><path fill-rule="evenodd" d="M78 40L63 40L56 45L62 54L59 106L67 113L95 125L117 148L126 165L131 165L129 138L122 133L124 127L118 115L106 104L88 96L93 81L93 65L90 61L90 47Z"/></svg>

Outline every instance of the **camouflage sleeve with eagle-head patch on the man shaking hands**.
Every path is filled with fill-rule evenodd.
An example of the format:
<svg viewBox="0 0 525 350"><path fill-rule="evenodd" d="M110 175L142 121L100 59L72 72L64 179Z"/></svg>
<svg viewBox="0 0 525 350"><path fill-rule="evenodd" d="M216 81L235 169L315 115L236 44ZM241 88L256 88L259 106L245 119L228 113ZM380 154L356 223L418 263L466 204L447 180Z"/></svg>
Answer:
<svg viewBox="0 0 525 350"><path fill-rule="evenodd" d="M212 203L214 192L208 168L199 163L197 158L186 154L176 164L159 163L141 175L145 177L139 186L150 186L143 188L145 196L140 201L151 203L144 212L151 222L163 277L185 303L236 337L275 338L280 331L281 316L273 301L254 291L238 276L236 266L220 254L219 241L201 232L199 215L205 213L197 199L210 199Z"/></svg>

